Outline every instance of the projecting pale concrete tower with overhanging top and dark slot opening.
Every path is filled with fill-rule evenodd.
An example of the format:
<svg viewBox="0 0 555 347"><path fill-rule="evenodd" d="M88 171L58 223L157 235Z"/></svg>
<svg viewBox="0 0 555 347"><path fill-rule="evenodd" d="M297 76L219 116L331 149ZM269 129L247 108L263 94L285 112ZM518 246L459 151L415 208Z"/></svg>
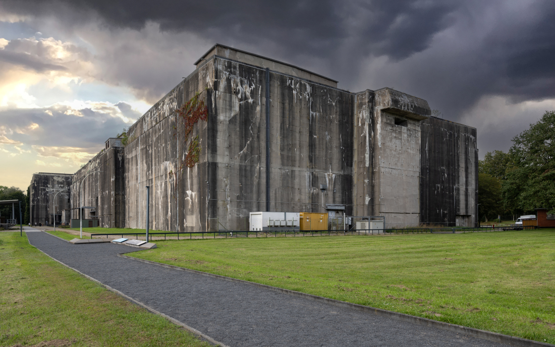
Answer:
<svg viewBox="0 0 555 347"><path fill-rule="evenodd" d="M355 215L420 223L420 122L430 113L426 100L391 88L356 94Z"/></svg>

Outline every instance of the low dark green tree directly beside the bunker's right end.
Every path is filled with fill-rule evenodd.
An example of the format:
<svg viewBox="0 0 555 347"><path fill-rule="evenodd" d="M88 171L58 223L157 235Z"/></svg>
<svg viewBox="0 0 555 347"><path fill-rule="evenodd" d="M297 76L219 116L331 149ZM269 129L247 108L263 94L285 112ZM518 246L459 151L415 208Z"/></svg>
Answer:
<svg viewBox="0 0 555 347"><path fill-rule="evenodd" d="M503 200L501 198L501 180L487 173L478 173L478 215L497 218L503 212Z"/></svg>

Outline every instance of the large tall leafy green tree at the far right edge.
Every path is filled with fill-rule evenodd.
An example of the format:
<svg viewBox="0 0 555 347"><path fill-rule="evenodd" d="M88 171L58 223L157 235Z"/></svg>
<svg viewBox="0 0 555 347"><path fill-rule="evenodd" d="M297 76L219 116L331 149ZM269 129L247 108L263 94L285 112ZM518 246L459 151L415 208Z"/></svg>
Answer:
<svg viewBox="0 0 555 347"><path fill-rule="evenodd" d="M510 208L555 213L555 111L513 138L503 195Z"/></svg>

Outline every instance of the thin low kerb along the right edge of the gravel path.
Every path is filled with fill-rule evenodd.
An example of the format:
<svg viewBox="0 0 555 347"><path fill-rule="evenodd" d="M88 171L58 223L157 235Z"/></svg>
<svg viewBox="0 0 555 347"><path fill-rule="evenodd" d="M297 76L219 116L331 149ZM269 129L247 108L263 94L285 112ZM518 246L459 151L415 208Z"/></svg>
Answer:
<svg viewBox="0 0 555 347"><path fill-rule="evenodd" d="M437 329L441 329L441 330L454 331L455 333L462 333L462 334L470 335L470 336L475 337L475 338L488 340L488 341L493 341L493 342L497 342L497 343L509 344L509 345L518 346L518 347L538 347L538 346L555 347L555 345L552 345L552 344L543 343L543 342L540 342L540 341L518 338L517 336L493 333L493 331L470 328L470 327L464 326L464 325L450 324L450 323L445 323L443 321L438 321L438 320L413 316L413 315L405 314L405 313L398 313L398 312L388 311L388 310L384 310L384 309L374 308L374 307L371 307L371 306L347 303L346 301L324 298L324 296L318 296L318 295L313 295L313 294L301 293L300 291L296 291L296 290L284 289L284 288L279 288L279 287L275 287L275 286L271 286L271 285L267 285L267 284L260 284L260 283L256 283L256 282L231 278L231 277L227 277L227 276L211 274L211 273L207 273L207 272L204 272L204 271L182 268L180 266L158 263L158 261L152 261L152 260L140 259L140 258L135 258L135 257L129 257L129 255L118 254L118 257L133 259L133 260L141 261L141 262L147 263L147 264L153 264L153 265L162 266L164 268L186 271L186 272L190 272L190 273L194 273L194 274L200 274L200 275L204 275L204 276L208 276L208 277L212 277L212 278L223 279L223 280L226 280L226 281L246 283L246 284L258 286L260 288L276 291L278 293L297 296L299 298L304 298L304 299L309 299L309 300L315 300L315 301L319 301L319 302L322 302L322 303L326 303L326 304L330 304L330 305L334 305L334 306L339 306L339 307L343 307L343 308L349 308L349 309L353 309L353 310L357 310L357 311L363 311L363 312L366 312L366 313L371 313L371 314L375 314L375 315L379 315L379 316L385 316L387 318L402 320L402 321L406 321L408 323L415 323L415 324L419 324L419 325L431 326L432 328L437 328ZM77 270L75 270L75 271L77 271Z"/></svg>

